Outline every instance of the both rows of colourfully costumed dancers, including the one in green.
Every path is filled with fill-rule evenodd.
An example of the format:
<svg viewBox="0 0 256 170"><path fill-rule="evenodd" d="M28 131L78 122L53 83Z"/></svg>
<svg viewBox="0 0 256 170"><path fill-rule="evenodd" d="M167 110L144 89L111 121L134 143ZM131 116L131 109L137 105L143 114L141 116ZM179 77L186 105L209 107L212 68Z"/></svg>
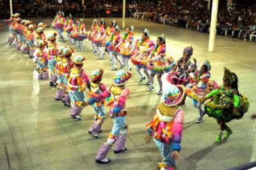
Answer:
<svg viewBox="0 0 256 170"><path fill-rule="evenodd" d="M74 24L72 16L68 15L66 19L62 12L58 12L52 22L58 33L53 32L47 38L44 35L46 28L44 23L38 24L36 29L35 24L29 20L22 20L17 13L5 21L9 23L10 45L15 45L17 50L29 53L33 57L38 80L49 80L49 85L57 87L55 99L71 107L72 118L81 120L83 108L88 104L94 108L95 117L92 127L88 130L94 138L99 138L102 124L107 118L105 107L110 108L109 115L114 122L113 129L96 155L95 160L98 163L111 162L107 153L112 145L115 145L114 153L127 150L125 142L129 126L125 117L128 113L126 102L130 90L125 85L132 78L130 59L140 75L138 82L147 77L145 85L149 86L148 91L152 91L154 76L157 76L160 87L157 94L163 94L156 113L147 124L148 135L145 138L148 143L153 137L163 156L159 169L177 167L184 120L184 111L179 106L185 104L186 97L192 99L193 106L198 110L196 123L202 122L205 114L217 120L220 131L215 139L216 143L221 143L223 138L228 139L232 134L227 123L242 118L248 111L248 99L239 93L238 78L235 73L225 67L223 85L218 85L216 81L211 80L211 64L208 60L205 60L200 69L196 59L191 61L192 46L184 48L182 57L175 62L172 57L166 55L163 34L155 43L150 39L148 29L144 29L141 38L133 45L134 27L127 27L124 35L121 36L115 21L109 22L109 27L104 29L104 20L100 20L99 25L97 20L94 20L90 31L86 32L83 19ZM63 31L67 32L70 45L76 44L81 52L84 50L83 40L88 39L93 54L99 55L98 59L103 59L104 52L108 53L113 65L112 71L117 69L116 60L120 63L120 70L116 71L111 85L107 86L102 82L104 69L95 69L88 76L83 68L86 58L81 55L72 57L73 48L58 46L57 36L60 41L66 41ZM122 67L126 67L126 71ZM164 73L168 74L166 80L169 84L166 89L163 89L161 80ZM86 89L89 90L88 99L85 94Z"/></svg>

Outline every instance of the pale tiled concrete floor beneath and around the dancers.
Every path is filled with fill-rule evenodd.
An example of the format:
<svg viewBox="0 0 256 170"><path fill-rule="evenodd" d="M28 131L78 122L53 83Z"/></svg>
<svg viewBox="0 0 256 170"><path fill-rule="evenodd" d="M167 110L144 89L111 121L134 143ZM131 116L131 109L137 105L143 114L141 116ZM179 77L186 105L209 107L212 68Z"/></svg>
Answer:
<svg viewBox="0 0 256 170"><path fill-rule="evenodd" d="M35 22L42 20L47 24L52 21L37 19ZM87 27L92 20L85 19ZM106 22L111 20L106 18ZM116 21L122 23L120 18ZM201 124L195 124L197 111L188 99L182 106L185 120L179 169L227 169L256 160L255 122L250 119L256 109L256 43L216 36L215 52L211 53L207 52L209 34L130 18L126 23L134 25L136 38L145 27L154 40L164 33L167 54L175 60L182 56L185 46L193 45L193 57L201 64L208 59L212 65L212 78L220 84L223 66L227 66L237 73L239 91L250 101L250 110L243 119L228 124L234 132L230 139L216 145L214 139L219 130L216 121L204 117ZM127 101L128 150L116 155L112 149L108 154L112 162L97 164L95 155L111 131L112 120L106 120L99 139L92 138L87 133L93 122L92 106L84 108L82 121L72 120L70 108L54 100L56 89L49 87L49 81L36 80L35 63L28 55L8 45L7 29L5 26L0 32L0 169L156 169L161 156L153 141L146 145L143 139L147 134L145 124L160 101L156 94L159 90L157 81L154 91L147 92L147 87L137 82L139 76L132 66L134 74L127 84L131 89ZM53 30L47 28L45 33L49 35ZM76 50L73 56L87 57L84 67L88 73L103 67L103 81L109 85L115 72L109 71L108 57L97 60L88 41L84 45L84 52Z"/></svg>

